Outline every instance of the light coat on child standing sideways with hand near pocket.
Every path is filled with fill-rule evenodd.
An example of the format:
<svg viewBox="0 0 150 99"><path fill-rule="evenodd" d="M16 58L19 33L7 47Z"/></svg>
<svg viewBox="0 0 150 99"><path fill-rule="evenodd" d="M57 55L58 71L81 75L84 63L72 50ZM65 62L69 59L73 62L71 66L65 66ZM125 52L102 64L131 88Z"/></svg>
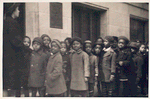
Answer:
<svg viewBox="0 0 150 99"><path fill-rule="evenodd" d="M62 56L60 52L50 56L46 72L46 92L48 94L61 94L67 91L62 72Z"/></svg>

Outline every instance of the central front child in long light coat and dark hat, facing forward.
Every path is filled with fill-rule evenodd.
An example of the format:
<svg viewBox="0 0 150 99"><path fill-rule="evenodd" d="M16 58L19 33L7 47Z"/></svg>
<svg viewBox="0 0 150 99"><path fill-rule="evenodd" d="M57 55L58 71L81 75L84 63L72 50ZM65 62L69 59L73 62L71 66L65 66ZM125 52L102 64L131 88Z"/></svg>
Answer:
<svg viewBox="0 0 150 99"><path fill-rule="evenodd" d="M71 43L73 52L71 54L71 96L86 97L88 91L89 56L82 50L82 41L75 37Z"/></svg>

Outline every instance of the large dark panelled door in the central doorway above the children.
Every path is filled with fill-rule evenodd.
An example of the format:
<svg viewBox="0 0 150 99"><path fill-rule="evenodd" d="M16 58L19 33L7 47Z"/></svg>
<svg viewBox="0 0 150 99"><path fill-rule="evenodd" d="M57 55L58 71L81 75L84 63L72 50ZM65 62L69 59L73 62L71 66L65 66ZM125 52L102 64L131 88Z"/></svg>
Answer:
<svg viewBox="0 0 150 99"><path fill-rule="evenodd" d="M100 35L100 12L72 4L72 36L95 42Z"/></svg>

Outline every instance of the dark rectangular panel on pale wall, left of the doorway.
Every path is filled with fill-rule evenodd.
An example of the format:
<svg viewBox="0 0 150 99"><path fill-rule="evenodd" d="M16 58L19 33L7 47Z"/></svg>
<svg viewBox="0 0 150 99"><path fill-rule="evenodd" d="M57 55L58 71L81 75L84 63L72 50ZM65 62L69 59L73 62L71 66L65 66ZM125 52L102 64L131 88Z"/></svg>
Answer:
<svg viewBox="0 0 150 99"><path fill-rule="evenodd" d="M62 3L50 3L50 27L62 29Z"/></svg>

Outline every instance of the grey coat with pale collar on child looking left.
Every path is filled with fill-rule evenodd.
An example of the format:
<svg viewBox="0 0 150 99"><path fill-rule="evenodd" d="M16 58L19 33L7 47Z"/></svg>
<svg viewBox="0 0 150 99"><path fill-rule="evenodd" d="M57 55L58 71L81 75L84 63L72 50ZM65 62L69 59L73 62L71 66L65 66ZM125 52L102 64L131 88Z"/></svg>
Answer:
<svg viewBox="0 0 150 99"><path fill-rule="evenodd" d="M110 76L116 72L116 53L110 47L103 52L102 67L100 70L100 79L102 82L110 82Z"/></svg>

